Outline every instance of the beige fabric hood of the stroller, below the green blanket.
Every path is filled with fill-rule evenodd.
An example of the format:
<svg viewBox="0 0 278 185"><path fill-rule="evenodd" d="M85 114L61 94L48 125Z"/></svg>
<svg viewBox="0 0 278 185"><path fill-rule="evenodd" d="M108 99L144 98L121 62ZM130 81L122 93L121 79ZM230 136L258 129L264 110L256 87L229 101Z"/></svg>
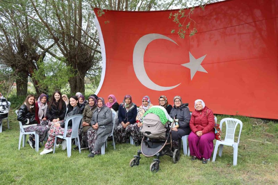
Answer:
<svg viewBox="0 0 278 185"><path fill-rule="evenodd" d="M162 124L158 115L154 113L149 113L143 119L143 127L141 132L144 136L148 138L165 139L166 125L167 124ZM147 134L146 132L150 132L151 134Z"/></svg>

